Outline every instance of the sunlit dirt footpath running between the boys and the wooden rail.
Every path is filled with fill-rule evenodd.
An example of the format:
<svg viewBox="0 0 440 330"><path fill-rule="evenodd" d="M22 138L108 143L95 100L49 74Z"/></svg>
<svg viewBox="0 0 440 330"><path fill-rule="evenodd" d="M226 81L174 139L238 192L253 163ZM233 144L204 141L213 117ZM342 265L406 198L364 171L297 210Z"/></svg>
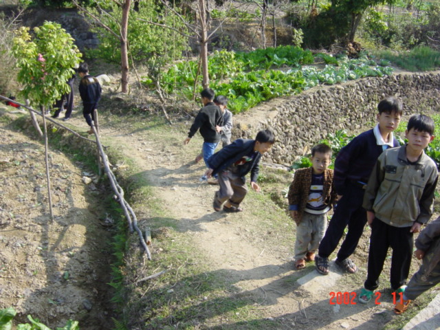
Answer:
<svg viewBox="0 0 440 330"><path fill-rule="evenodd" d="M115 130L103 124L101 133L106 138L117 139L126 157L142 169L143 175L155 187L155 194L163 201L166 217L179 220L181 232L191 235L198 250L210 260L212 272L226 270L228 281L259 301L266 318L281 320L284 329L294 326L300 329L374 329L391 319L391 298L382 301L381 305L367 307L330 305L329 292L360 289L360 285L353 287L350 281L340 281L336 287L329 287L322 278L321 284L320 280L316 281L318 287L312 292L299 287L294 279L315 271L313 265L300 272L292 269L292 227L289 227L292 231L289 246L265 245L263 240L247 235L252 226L248 219L250 210L245 209L240 214L214 212L212 197L217 186L199 183L204 165L193 161L201 140L192 139L190 146L184 147L183 133L176 133L172 139L161 139L150 132L127 130L129 126ZM243 206L250 207L246 199ZM289 222L287 217L286 222Z"/></svg>

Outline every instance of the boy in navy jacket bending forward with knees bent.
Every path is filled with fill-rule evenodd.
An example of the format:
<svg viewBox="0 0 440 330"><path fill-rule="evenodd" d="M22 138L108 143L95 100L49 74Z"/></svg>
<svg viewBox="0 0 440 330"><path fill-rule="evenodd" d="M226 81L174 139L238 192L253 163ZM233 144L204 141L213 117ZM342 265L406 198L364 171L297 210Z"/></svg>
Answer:
<svg viewBox="0 0 440 330"><path fill-rule="evenodd" d="M214 210L219 212L223 206L225 212L241 212L240 203L245 198L248 188L245 175L249 172L252 189L259 192L256 183L259 176L261 155L270 150L275 142L270 129L259 131L255 140L237 139L208 159L206 177L219 175L220 190L214 195Z"/></svg>

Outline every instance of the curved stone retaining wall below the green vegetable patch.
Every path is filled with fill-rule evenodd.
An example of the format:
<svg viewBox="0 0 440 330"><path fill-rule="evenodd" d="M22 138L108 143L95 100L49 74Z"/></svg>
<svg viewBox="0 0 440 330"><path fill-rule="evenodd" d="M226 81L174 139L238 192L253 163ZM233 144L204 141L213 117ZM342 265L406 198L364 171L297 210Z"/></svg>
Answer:
<svg viewBox="0 0 440 330"><path fill-rule="evenodd" d="M292 165L327 133L345 129L360 133L375 124L377 104L384 96L404 102L404 120L414 113L440 111L440 72L395 74L383 78L363 78L344 85L318 87L287 98L270 117L256 124L237 124L233 136L254 138L259 129L272 127L276 144L265 156L276 164ZM271 112L272 112L271 111Z"/></svg>

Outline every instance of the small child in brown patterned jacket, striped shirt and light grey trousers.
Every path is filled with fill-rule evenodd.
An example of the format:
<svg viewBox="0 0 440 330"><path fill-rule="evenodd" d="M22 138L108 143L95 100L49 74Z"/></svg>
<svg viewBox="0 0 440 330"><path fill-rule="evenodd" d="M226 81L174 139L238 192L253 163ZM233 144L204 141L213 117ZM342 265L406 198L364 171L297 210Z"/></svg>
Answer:
<svg viewBox="0 0 440 330"><path fill-rule="evenodd" d="M331 148L318 144L311 149L311 168L296 170L289 188L290 216L296 223L295 267L314 261L315 252L327 227L327 212L336 201L333 190Z"/></svg>

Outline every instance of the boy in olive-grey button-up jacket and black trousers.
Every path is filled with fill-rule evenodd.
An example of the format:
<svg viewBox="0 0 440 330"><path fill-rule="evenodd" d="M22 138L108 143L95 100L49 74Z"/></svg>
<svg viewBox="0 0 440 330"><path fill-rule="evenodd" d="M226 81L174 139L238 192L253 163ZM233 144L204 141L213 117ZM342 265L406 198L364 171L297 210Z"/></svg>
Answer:
<svg viewBox="0 0 440 330"><path fill-rule="evenodd" d="M437 166L424 148L434 139L434 120L412 115L408 143L379 156L366 187L363 206L371 226L368 274L359 296L368 303L379 286L388 248L391 257L391 288L404 292L411 265L412 235L432 215Z"/></svg>

